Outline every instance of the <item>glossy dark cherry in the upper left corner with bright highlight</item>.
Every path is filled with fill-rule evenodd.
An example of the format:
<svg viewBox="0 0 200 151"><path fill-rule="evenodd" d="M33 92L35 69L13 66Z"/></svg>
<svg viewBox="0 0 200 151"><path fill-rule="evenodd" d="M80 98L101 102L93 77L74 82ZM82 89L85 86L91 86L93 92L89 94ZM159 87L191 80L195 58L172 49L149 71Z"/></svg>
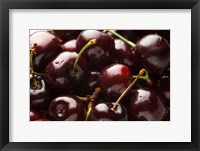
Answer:
<svg viewBox="0 0 200 151"><path fill-rule="evenodd" d="M60 41L54 35L38 31L30 36L30 49L33 51L33 69L42 72L62 50Z"/></svg>

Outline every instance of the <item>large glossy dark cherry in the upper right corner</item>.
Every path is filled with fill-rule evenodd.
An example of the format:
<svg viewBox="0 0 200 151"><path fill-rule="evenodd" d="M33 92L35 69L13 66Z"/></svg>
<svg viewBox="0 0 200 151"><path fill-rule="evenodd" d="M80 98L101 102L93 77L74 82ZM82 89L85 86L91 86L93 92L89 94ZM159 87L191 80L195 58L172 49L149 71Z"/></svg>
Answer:
<svg viewBox="0 0 200 151"><path fill-rule="evenodd" d="M144 67L152 72L163 73L170 61L170 47L165 38L151 34L136 43L136 54Z"/></svg>

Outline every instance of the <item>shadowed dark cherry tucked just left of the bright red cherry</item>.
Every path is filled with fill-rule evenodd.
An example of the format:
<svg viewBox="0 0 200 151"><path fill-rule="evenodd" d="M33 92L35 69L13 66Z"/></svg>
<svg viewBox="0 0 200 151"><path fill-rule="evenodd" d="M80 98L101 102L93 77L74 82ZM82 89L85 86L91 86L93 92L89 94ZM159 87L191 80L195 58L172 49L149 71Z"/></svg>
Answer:
<svg viewBox="0 0 200 151"><path fill-rule="evenodd" d="M95 88L99 87L99 72L90 71L87 76L82 80L82 83L77 88L77 93L81 96L92 94Z"/></svg>

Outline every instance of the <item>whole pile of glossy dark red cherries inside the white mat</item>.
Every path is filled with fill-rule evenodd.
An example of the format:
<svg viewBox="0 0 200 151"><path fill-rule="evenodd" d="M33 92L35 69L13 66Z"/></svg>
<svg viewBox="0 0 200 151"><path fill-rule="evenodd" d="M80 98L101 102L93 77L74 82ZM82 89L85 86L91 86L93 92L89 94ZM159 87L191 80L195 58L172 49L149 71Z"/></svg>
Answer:
<svg viewBox="0 0 200 151"><path fill-rule="evenodd" d="M169 120L169 30L30 34L30 121Z"/></svg>

